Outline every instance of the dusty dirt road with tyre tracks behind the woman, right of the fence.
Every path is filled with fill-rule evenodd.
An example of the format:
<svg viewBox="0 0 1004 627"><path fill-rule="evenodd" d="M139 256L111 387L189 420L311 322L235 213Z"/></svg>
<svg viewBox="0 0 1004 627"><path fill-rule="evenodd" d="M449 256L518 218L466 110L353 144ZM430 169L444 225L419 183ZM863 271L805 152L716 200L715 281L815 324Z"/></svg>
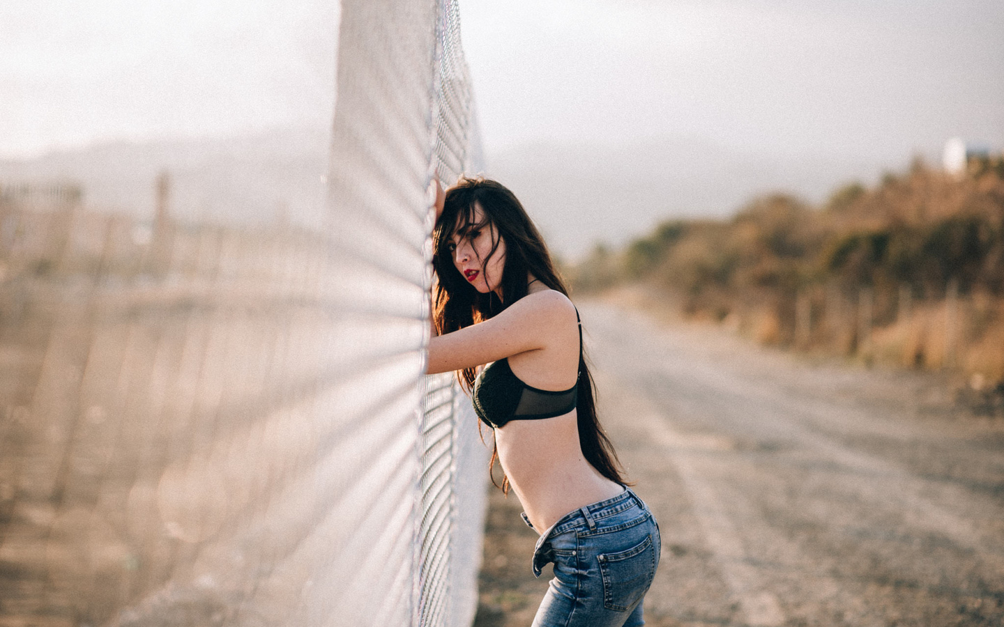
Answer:
<svg viewBox="0 0 1004 627"><path fill-rule="evenodd" d="M579 309L601 416L662 527L650 625L1004 624L1004 421L937 375ZM547 573L515 498L491 503L476 624L528 625Z"/></svg>

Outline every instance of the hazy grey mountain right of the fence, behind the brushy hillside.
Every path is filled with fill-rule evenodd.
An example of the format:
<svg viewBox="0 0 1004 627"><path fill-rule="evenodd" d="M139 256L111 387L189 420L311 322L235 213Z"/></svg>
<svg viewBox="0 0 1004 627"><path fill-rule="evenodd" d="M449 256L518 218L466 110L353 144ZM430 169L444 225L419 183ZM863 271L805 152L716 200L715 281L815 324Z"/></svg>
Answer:
<svg viewBox="0 0 1004 627"><path fill-rule="evenodd" d="M786 160L686 137L618 146L536 143L489 152L488 166L567 259L596 243L619 246L671 218L728 216L770 192L816 202L878 172L851 160Z"/></svg>

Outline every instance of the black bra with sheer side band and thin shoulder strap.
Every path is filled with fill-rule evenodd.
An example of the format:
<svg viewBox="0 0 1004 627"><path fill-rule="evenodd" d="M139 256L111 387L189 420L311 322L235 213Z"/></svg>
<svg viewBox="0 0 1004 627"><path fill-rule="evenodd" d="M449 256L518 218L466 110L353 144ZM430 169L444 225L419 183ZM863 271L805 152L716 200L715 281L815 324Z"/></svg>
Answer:
<svg viewBox="0 0 1004 627"><path fill-rule="evenodd" d="M582 321L578 320L578 353L582 355ZM497 428L509 420L536 420L564 415L578 402L578 379L565 390L539 389L527 385L512 372L509 359L485 366L474 381L474 412L481 421Z"/></svg>

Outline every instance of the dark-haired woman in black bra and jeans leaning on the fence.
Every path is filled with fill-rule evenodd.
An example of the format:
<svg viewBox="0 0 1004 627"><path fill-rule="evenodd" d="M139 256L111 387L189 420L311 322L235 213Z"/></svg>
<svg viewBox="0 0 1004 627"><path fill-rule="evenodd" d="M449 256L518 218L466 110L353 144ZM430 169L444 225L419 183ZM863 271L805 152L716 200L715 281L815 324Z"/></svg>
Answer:
<svg viewBox="0 0 1004 627"><path fill-rule="evenodd" d="M540 533L534 575L554 563L533 625L643 625L659 528L596 419L578 312L509 190L466 178L445 195L436 186L429 372L455 370L472 391L501 488Z"/></svg>

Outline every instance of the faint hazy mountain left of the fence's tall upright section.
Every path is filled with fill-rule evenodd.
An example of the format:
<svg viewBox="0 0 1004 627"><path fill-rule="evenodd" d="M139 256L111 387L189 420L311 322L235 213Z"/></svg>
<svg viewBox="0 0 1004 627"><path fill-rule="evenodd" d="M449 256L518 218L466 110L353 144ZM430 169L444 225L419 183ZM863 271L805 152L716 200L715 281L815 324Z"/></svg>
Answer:
<svg viewBox="0 0 1004 627"><path fill-rule="evenodd" d="M140 218L154 214L154 185L171 177L178 219L312 221L322 211L326 129L283 128L242 136L104 143L26 161L0 160L0 182L74 181L84 204Z"/></svg>

